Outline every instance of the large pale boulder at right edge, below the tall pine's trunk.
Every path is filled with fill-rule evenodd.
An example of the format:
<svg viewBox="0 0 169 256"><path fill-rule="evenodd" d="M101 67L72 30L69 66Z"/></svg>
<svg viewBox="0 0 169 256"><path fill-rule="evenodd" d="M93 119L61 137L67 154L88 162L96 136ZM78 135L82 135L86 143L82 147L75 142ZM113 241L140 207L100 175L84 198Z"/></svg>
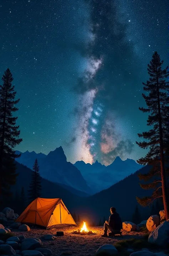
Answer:
<svg viewBox="0 0 169 256"><path fill-rule="evenodd" d="M164 221L155 230L153 230L149 237L148 242L154 243L158 246L167 246L169 241L169 222Z"/></svg>

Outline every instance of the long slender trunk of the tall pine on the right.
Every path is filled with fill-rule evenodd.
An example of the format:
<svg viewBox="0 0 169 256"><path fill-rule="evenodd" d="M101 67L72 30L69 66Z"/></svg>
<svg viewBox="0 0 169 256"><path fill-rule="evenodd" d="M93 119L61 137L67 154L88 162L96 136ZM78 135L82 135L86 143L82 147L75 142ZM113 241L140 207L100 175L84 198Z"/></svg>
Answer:
<svg viewBox="0 0 169 256"><path fill-rule="evenodd" d="M156 71L157 71L157 65L156 65ZM160 166L161 166L161 176L162 176L162 193L163 193L165 218L167 220L169 218L169 211L168 211L168 203L167 203L168 202L168 200L167 200L167 182L166 182L166 175L165 175L163 128L162 128L162 117L161 117L161 109L160 109L158 71L157 71L157 97L158 97L158 115L159 115Z"/></svg>

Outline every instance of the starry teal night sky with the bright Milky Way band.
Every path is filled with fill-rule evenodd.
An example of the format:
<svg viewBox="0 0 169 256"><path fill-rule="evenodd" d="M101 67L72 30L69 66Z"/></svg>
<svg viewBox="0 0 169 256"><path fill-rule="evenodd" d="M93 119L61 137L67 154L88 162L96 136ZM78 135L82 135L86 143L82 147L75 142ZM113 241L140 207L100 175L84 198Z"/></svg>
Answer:
<svg viewBox="0 0 169 256"><path fill-rule="evenodd" d="M142 82L154 51L168 65L167 0L4 0L0 74L13 77L23 141L62 146L72 163L137 160L148 130Z"/></svg>

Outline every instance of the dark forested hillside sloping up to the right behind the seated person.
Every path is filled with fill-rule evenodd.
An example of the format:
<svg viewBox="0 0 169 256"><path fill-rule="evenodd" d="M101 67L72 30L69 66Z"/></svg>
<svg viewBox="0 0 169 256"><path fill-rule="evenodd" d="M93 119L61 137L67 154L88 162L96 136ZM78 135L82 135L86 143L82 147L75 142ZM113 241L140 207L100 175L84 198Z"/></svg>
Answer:
<svg viewBox="0 0 169 256"><path fill-rule="evenodd" d="M83 200L76 208L76 212L83 215L87 221L99 221L99 218L108 219L110 207L115 207L121 215L123 221L131 221L135 206L137 205L136 196L143 197L149 191L143 190L139 185L139 173L146 173L149 166L145 166L134 174L119 181L108 189L105 189L89 198ZM138 205L142 213L142 219L147 218L149 208Z"/></svg>

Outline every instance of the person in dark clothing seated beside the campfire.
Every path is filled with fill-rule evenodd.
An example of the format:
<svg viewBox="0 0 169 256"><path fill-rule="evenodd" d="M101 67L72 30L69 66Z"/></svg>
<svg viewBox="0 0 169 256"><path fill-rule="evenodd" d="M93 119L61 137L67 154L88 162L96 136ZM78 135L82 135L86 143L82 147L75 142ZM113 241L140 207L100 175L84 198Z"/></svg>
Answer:
<svg viewBox="0 0 169 256"><path fill-rule="evenodd" d="M114 207L110 208L111 215L109 217L109 221L104 223L104 233L102 234L103 237L107 237L107 231L117 234L122 229L122 221L119 214L116 212Z"/></svg>

